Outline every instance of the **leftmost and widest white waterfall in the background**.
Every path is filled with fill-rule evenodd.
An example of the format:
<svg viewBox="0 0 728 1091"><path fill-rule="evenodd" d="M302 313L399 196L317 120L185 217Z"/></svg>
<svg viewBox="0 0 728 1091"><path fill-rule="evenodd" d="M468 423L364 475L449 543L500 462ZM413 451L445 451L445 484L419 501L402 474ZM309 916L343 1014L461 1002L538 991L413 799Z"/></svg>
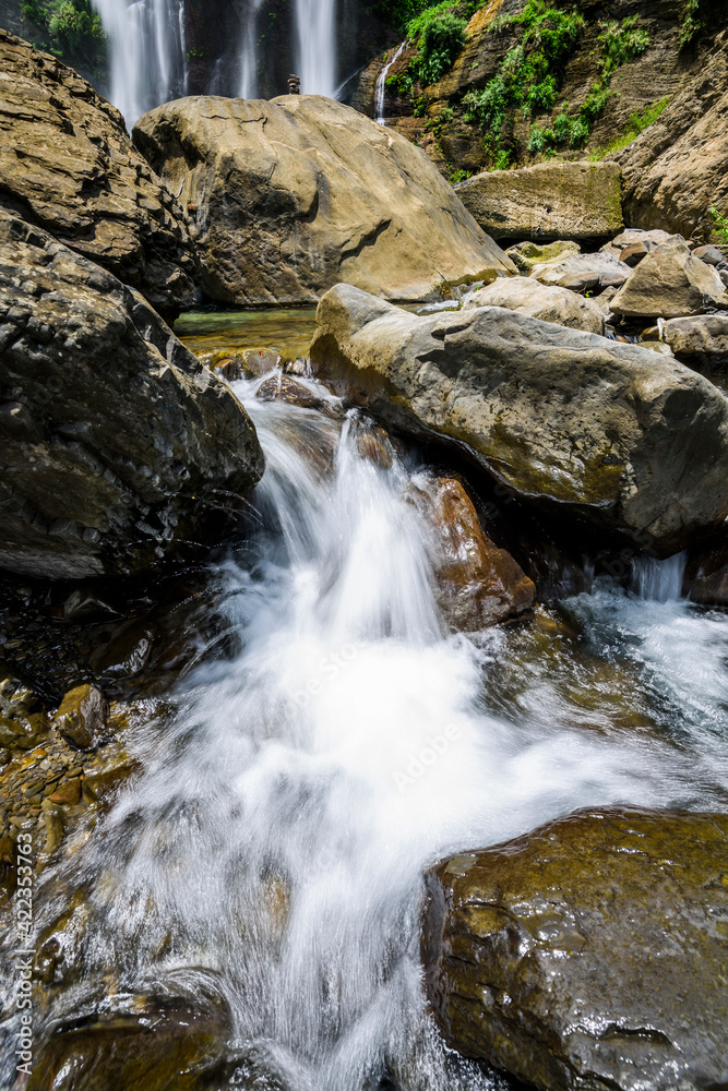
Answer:
<svg viewBox="0 0 728 1091"><path fill-rule="evenodd" d="M155 106L183 95L182 0L92 0L109 39L109 98L129 129Z"/></svg>

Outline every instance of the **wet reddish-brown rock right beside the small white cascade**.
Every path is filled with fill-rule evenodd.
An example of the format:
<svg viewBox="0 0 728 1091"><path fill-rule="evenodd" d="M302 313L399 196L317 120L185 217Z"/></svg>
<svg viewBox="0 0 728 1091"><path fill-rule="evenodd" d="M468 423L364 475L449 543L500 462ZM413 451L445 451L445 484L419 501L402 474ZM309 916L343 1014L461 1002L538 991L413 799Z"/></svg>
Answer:
<svg viewBox="0 0 728 1091"><path fill-rule="evenodd" d="M529 611L536 588L484 530L457 478L416 482L411 500L433 531L432 567L446 627L474 633Z"/></svg>

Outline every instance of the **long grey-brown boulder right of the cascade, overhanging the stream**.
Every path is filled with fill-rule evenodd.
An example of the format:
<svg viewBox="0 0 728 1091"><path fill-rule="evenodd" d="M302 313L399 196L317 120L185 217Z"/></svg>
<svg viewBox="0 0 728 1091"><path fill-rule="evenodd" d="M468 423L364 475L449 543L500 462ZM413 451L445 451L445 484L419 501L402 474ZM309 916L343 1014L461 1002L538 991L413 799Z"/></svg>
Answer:
<svg viewBox="0 0 728 1091"><path fill-rule="evenodd" d="M502 308L420 317L346 285L317 321L320 375L561 518L669 555L728 515L728 399L682 364Z"/></svg>

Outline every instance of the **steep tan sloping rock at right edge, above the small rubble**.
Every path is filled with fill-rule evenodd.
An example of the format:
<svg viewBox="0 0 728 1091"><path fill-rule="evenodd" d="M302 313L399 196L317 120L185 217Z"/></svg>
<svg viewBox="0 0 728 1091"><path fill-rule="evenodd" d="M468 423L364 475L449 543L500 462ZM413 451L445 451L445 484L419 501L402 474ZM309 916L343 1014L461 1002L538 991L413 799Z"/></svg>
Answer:
<svg viewBox="0 0 728 1091"><path fill-rule="evenodd" d="M630 225L711 239L709 209L717 206L728 214L727 88L728 32L724 31L687 86L671 92L672 100L659 120L613 156L622 168Z"/></svg>

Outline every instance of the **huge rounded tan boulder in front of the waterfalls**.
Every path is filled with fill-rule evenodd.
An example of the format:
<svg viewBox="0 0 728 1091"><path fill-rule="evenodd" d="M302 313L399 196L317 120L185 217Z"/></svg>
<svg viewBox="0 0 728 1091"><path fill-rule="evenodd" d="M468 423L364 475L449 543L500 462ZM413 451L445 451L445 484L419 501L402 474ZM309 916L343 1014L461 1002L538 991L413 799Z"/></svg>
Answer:
<svg viewBox="0 0 728 1091"><path fill-rule="evenodd" d="M196 207L211 299L312 302L345 281L423 300L515 272L422 152L331 99L180 99L134 141Z"/></svg>

